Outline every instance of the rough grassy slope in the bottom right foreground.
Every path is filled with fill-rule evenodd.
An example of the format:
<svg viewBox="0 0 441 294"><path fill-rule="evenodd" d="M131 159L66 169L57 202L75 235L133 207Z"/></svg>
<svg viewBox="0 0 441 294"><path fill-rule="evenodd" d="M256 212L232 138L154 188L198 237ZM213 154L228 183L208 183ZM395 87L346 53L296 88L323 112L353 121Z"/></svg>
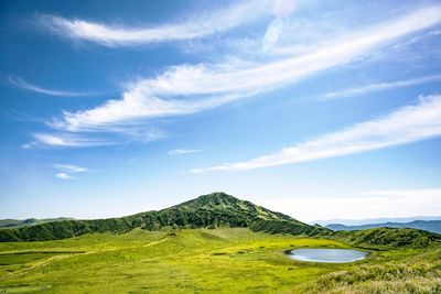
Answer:
<svg viewBox="0 0 441 294"><path fill-rule="evenodd" d="M441 248L386 251L378 262L324 274L301 286L304 293L441 293Z"/></svg>

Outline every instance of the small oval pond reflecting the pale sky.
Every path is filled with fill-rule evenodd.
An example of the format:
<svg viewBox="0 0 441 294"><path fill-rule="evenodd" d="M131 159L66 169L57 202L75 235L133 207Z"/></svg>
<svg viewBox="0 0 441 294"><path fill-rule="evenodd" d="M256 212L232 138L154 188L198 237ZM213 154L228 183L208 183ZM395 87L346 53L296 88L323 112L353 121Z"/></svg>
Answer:
<svg viewBox="0 0 441 294"><path fill-rule="evenodd" d="M365 259L367 252L353 249L294 249L286 252L291 259L310 262L353 262Z"/></svg>

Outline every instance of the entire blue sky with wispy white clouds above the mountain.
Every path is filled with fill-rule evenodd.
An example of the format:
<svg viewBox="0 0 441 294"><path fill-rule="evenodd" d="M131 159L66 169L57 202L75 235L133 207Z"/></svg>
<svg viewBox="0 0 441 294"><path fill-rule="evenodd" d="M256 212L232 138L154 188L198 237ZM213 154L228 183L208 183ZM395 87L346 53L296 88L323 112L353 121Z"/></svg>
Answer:
<svg viewBox="0 0 441 294"><path fill-rule="evenodd" d="M0 218L440 215L439 1L0 6Z"/></svg>

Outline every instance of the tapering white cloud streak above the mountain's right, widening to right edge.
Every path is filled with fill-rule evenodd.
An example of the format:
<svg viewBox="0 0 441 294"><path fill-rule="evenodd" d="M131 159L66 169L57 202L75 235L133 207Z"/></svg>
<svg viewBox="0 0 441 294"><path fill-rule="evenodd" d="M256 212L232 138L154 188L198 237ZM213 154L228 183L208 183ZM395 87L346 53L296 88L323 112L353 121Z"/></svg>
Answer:
<svg viewBox="0 0 441 294"><path fill-rule="evenodd" d="M192 172L245 171L315 161L383 149L441 135L441 96L420 98L415 106L352 126L315 140L286 148L250 161L227 163Z"/></svg>

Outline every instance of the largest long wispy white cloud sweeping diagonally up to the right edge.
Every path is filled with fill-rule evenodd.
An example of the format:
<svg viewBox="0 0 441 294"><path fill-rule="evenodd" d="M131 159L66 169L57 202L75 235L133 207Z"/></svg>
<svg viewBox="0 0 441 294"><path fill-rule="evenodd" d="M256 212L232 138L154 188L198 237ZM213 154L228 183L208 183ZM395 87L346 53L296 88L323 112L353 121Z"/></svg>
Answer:
<svg viewBox="0 0 441 294"><path fill-rule="evenodd" d="M353 32L316 51L269 63L181 65L129 85L121 99L93 109L63 112L52 127L71 132L111 130L146 119L182 116L268 91L313 73L349 63L379 45L441 22L441 7L418 10L400 19Z"/></svg>

